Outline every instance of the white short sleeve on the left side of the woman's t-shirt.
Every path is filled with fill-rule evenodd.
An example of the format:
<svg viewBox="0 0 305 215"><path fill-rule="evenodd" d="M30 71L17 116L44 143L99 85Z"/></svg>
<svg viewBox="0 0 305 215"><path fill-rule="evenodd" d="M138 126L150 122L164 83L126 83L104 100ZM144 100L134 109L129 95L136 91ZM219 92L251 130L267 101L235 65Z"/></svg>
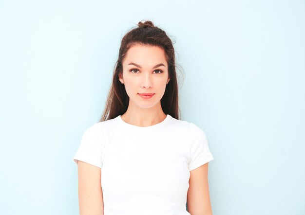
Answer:
<svg viewBox="0 0 305 215"><path fill-rule="evenodd" d="M102 168L102 129L96 123L87 128L82 135L78 150L73 161L84 161L99 168Z"/></svg>

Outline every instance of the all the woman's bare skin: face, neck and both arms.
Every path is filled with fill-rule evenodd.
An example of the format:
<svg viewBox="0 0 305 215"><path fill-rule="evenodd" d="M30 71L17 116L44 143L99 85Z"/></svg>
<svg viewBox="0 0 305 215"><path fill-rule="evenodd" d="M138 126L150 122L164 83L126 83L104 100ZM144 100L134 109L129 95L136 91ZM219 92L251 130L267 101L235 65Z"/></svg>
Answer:
<svg viewBox="0 0 305 215"><path fill-rule="evenodd" d="M166 114L161 107L166 84L170 81L164 50L156 46L132 46L123 60L123 73L119 81L124 84L130 98L127 111L121 116L128 124L151 126L162 122ZM135 65L129 65L135 63ZM164 66L158 66L164 64ZM162 72L160 72L162 71ZM151 99L143 99L138 93L155 93ZM191 215L211 215L206 163L190 171L187 196ZM80 215L103 215L101 168L78 161L78 200Z"/></svg>

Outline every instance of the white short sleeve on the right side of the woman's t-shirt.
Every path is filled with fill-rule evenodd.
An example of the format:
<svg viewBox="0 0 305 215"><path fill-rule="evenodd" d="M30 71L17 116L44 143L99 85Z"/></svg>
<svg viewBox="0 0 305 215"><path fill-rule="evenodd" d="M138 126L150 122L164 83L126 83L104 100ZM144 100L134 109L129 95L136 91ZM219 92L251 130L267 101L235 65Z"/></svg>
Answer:
<svg viewBox="0 0 305 215"><path fill-rule="evenodd" d="M197 125L192 123L189 130L189 143L190 171L214 159L209 149L206 134Z"/></svg>

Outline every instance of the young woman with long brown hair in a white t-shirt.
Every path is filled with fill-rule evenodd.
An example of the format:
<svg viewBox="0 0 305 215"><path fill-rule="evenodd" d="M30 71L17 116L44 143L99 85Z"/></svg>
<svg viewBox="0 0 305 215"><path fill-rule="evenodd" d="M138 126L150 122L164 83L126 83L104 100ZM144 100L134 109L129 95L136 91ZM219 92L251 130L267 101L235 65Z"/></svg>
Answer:
<svg viewBox="0 0 305 215"><path fill-rule="evenodd" d="M179 120L171 39L151 21L121 41L99 123L83 134L80 215L211 215L205 133ZM186 208L187 203L187 208Z"/></svg>

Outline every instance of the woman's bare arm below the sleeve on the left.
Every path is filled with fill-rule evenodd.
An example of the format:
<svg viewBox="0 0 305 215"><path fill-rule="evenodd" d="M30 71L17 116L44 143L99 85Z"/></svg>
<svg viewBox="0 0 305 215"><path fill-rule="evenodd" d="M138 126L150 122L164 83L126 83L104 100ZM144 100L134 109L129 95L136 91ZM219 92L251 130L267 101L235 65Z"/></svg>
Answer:
<svg viewBox="0 0 305 215"><path fill-rule="evenodd" d="M103 215L101 168L78 161L77 171L79 215Z"/></svg>

